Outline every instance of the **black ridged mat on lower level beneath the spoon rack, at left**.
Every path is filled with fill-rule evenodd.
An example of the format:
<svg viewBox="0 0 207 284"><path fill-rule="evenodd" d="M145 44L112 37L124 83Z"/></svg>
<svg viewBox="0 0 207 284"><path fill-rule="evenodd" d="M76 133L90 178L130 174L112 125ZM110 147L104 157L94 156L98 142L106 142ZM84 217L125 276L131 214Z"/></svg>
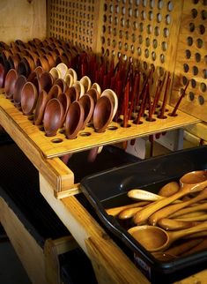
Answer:
<svg viewBox="0 0 207 284"><path fill-rule="evenodd" d="M0 145L0 187L0 194L11 209L22 213L21 217L33 225L42 239L69 235L41 196L37 169L14 143Z"/></svg>

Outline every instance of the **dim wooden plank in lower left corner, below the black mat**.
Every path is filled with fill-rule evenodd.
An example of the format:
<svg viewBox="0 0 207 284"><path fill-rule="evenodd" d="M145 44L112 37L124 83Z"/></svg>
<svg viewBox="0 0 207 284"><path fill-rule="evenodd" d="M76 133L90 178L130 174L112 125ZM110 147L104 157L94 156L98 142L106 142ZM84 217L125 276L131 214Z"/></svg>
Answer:
<svg viewBox="0 0 207 284"><path fill-rule="evenodd" d="M3 198L0 221L33 284L46 284L43 250ZM10 265L10 264L8 264Z"/></svg>

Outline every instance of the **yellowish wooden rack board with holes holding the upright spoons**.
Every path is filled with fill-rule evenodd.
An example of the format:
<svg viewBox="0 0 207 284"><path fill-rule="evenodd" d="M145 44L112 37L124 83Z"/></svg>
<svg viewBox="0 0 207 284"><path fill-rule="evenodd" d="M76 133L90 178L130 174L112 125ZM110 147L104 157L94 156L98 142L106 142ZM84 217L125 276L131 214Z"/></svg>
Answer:
<svg viewBox="0 0 207 284"><path fill-rule="evenodd" d="M168 113L170 113L172 108L170 106L167 106L167 108ZM122 123L113 122L110 123L107 131L102 133L95 132L92 127L85 127L84 131L79 132L78 138L67 139L62 131L58 131L54 137L47 137L44 131L40 131L27 116L24 116L18 108L13 106L11 101L5 99L3 94L0 95L0 109L4 116L10 117L10 127L18 128L19 131L24 133L27 142L33 143L33 146L47 158L63 156L66 153L76 153L95 146L115 144L162 131L171 131L199 122L196 117L189 116L179 110L178 116L167 116L166 113L166 119L157 118L155 122L143 120L143 123L137 125L129 121L127 128L123 128Z"/></svg>

